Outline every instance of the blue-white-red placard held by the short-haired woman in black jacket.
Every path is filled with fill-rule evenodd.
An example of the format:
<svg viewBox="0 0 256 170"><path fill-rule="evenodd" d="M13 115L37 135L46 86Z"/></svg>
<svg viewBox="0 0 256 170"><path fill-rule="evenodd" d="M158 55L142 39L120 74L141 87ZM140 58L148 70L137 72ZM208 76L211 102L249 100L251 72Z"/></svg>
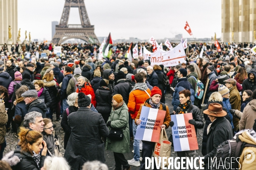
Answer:
<svg viewBox="0 0 256 170"><path fill-rule="evenodd" d="M192 113L171 115L174 122L172 139L174 151L198 150L195 126L189 123L193 119Z"/></svg>

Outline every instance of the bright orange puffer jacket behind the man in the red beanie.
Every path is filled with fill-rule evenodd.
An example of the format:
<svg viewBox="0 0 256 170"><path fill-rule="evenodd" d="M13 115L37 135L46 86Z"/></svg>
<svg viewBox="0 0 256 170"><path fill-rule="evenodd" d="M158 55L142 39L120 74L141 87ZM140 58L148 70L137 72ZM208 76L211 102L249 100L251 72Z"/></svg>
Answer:
<svg viewBox="0 0 256 170"><path fill-rule="evenodd" d="M151 91L148 88L147 92L151 95ZM131 119L135 119L137 117L138 111L140 110L140 105L144 104L144 102L150 98L145 91L135 90L132 91L129 95L128 100L128 109L131 114Z"/></svg>

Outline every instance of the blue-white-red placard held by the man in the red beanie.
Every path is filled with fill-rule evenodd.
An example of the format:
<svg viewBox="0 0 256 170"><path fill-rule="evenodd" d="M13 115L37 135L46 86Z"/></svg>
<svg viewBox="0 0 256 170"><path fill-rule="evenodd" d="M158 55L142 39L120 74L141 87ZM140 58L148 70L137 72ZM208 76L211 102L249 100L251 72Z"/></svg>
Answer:
<svg viewBox="0 0 256 170"><path fill-rule="evenodd" d="M160 126L163 125L165 115L166 111L142 106L140 113L141 123L137 127L135 139L159 142Z"/></svg>

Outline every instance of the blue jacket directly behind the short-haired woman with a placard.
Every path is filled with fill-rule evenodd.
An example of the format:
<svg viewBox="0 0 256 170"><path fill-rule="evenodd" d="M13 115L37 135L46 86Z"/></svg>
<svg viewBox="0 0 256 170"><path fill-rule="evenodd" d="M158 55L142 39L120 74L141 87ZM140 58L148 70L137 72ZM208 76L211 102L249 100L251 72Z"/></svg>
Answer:
<svg viewBox="0 0 256 170"><path fill-rule="evenodd" d="M175 91L173 93L173 99L172 99L172 105L173 105L173 110L176 111L178 105L180 104L180 91L183 90L189 90L191 93L190 100L192 102L192 105L194 105L195 101L195 91L193 89L193 86L190 84L188 79L186 77L178 79L178 84L175 87Z"/></svg>

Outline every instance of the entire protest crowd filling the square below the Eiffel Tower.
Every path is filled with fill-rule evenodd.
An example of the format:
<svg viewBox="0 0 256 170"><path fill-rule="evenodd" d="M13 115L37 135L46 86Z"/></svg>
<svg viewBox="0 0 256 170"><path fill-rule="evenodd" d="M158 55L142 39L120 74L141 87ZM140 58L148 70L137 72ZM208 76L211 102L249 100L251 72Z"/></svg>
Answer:
<svg viewBox="0 0 256 170"><path fill-rule="evenodd" d="M154 37L121 44L111 35L102 44L3 45L0 169L108 170L105 150L113 151L115 170L172 169L174 150L204 169L233 157L223 164L255 170L248 156L256 153L255 49L217 40L158 44ZM204 131L200 159L197 129ZM17 148L3 155L9 131Z"/></svg>

